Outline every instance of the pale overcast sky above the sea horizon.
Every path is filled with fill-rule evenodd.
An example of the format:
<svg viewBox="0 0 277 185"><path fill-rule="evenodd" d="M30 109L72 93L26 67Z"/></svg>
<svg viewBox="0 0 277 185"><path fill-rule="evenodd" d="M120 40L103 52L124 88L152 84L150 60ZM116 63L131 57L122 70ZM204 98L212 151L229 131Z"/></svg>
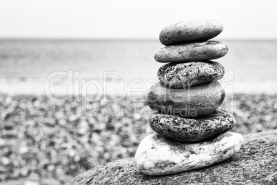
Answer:
<svg viewBox="0 0 277 185"><path fill-rule="evenodd" d="M222 39L277 39L276 0L1 0L0 37L151 38L169 23L216 19Z"/></svg>

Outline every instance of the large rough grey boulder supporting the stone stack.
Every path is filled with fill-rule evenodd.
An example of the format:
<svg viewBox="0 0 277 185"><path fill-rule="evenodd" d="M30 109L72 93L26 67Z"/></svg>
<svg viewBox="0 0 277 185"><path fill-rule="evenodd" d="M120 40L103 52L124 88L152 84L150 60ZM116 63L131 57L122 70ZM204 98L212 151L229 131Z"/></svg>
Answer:
<svg viewBox="0 0 277 185"><path fill-rule="evenodd" d="M245 145L236 155L206 168L149 176L136 168L134 158L127 158L85 171L74 177L71 184L276 184L277 130L243 137Z"/></svg>

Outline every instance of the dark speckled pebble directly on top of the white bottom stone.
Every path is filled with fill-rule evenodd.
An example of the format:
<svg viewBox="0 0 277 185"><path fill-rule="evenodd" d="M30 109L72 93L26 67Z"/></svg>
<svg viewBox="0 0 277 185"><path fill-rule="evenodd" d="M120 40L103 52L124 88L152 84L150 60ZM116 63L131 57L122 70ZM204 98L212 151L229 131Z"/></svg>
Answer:
<svg viewBox="0 0 277 185"><path fill-rule="evenodd" d="M163 115L154 111L149 122L156 133L178 142L201 142L226 133L236 126L234 116L224 108L217 108L211 115L195 119Z"/></svg>

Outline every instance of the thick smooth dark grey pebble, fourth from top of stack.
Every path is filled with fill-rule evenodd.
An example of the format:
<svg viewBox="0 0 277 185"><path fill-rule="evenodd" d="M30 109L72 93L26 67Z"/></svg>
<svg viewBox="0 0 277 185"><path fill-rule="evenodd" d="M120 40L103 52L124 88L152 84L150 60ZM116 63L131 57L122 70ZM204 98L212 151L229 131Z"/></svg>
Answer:
<svg viewBox="0 0 277 185"><path fill-rule="evenodd" d="M225 90L218 81L183 89L167 88L158 82L147 92L150 108L165 115L180 117L209 115L222 104L224 98Z"/></svg>

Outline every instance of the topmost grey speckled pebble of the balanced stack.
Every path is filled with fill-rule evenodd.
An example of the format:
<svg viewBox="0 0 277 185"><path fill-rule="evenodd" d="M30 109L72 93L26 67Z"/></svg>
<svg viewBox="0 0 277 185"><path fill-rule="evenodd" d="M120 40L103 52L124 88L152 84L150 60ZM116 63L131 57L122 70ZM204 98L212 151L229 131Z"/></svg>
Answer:
<svg viewBox="0 0 277 185"><path fill-rule="evenodd" d="M223 24L214 20L183 21L165 26L160 41L165 46L176 43L206 41L223 31Z"/></svg>

